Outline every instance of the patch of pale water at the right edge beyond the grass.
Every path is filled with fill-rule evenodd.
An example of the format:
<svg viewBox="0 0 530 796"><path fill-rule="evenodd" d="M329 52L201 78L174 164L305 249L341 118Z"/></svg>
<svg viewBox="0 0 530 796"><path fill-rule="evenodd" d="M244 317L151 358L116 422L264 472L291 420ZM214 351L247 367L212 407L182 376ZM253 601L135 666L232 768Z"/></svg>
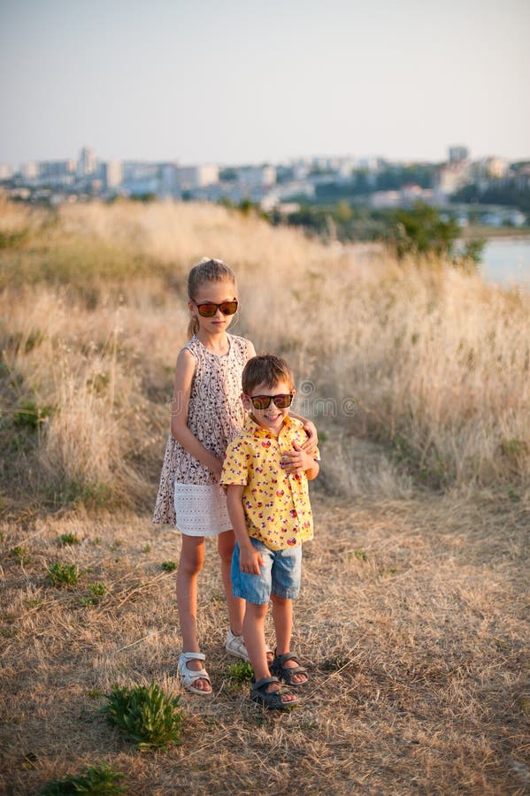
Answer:
<svg viewBox="0 0 530 796"><path fill-rule="evenodd" d="M530 288L530 238L490 239L482 252L480 269L486 279Z"/></svg>

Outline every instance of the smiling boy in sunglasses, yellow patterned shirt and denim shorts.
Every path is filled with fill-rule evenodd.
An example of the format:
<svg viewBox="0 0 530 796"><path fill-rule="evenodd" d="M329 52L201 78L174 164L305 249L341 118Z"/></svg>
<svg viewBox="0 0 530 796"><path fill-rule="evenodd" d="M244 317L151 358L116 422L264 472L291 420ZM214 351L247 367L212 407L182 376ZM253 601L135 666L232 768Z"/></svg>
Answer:
<svg viewBox="0 0 530 796"><path fill-rule="evenodd" d="M295 392L285 360L269 354L249 360L242 372L242 402L250 415L227 447L220 479L236 538L233 593L247 601L243 638L255 677L250 699L280 710L298 702L294 693L280 687L280 680L292 687L308 682L289 647L302 542L313 536L307 482L319 474L318 450L315 458L303 450L303 425L289 417ZM269 599L276 631L271 671L264 630Z"/></svg>

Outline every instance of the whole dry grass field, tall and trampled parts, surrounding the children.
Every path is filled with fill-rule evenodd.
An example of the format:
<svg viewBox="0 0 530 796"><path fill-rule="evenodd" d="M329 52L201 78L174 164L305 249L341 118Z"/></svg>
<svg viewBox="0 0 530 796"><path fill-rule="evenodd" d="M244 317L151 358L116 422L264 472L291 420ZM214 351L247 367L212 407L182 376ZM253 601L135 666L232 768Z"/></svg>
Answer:
<svg viewBox="0 0 530 796"><path fill-rule="evenodd" d="M149 796L527 792L529 295L211 205L4 203L0 236L0 788L108 761ZM288 357L319 426L295 639L312 685L270 716L230 680L209 546L215 695L183 694L183 746L142 755L97 711L114 683L180 688L160 566L180 542L150 507L204 253L234 265L234 331ZM55 562L79 584L51 586Z"/></svg>

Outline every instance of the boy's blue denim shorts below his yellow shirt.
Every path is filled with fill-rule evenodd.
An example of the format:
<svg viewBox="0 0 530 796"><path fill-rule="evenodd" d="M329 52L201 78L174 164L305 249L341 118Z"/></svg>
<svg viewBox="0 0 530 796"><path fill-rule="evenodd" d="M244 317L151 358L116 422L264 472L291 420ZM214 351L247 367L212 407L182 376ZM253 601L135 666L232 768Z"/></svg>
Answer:
<svg viewBox="0 0 530 796"><path fill-rule="evenodd" d="M261 553L265 565L259 575L242 572L239 567L239 545L232 556L232 592L234 597L264 605L271 593L284 600L294 600L300 591L302 576L302 545L287 550L271 550L262 541L250 537L254 547Z"/></svg>

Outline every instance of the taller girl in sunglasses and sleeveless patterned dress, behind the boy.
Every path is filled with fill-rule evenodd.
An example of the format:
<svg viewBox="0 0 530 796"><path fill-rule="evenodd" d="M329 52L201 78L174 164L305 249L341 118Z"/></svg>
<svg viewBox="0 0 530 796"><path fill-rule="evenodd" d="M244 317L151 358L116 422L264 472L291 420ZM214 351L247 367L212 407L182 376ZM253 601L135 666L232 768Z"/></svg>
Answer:
<svg viewBox="0 0 530 796"><path fill-rule="evenodd" d="M227 651L249 660L242 639L244 600L233 596L230 583L234 532L219 486L227 444L243 424L242 370L256 354L250 341L227 333L237 307L234 272L222 260L204 257L188 275L191 339L177 357L171 434L153 516L154 523L176 524L182 534L177 571L183 650L179 675L185 688L199 694L211 693L196 625L197 579L204 562L205 536L218 537L230 621ZM311 452L316 429L300 419L309 434L304 447Z"/></svg>

